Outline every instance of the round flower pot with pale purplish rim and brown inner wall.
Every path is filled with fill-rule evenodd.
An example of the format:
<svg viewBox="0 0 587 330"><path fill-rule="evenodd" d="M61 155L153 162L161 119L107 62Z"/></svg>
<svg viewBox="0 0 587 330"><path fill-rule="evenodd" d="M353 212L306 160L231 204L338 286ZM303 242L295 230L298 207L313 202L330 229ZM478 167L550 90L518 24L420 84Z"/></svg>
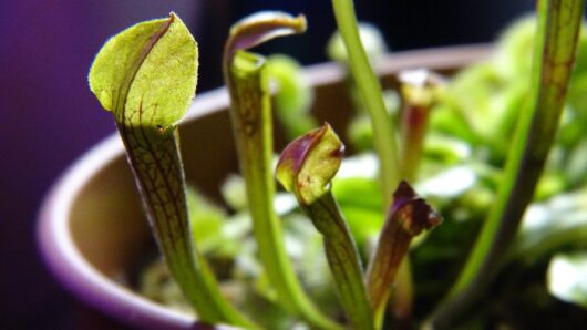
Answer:
<svg viewBox="0 0 587 330"><path fill-rule="evenodd" d="M390 86L398 70L424 66L446 73L488 52L487 45L402 52L388 55L378 70ZM326 63L305 74L316 89L317 117L343 132L351 113L343 71ZM213 198L218 198L225 176L237 168L227 106L224 89L203 93L179 128L187 179ZM284 138L277 136L276 143L282 146ZM127 283L153 239L117 134L91 148L55 183L41 207L38 234L58 280L102 314L142 329L204 327L190 314L140 296Z"/></svg>

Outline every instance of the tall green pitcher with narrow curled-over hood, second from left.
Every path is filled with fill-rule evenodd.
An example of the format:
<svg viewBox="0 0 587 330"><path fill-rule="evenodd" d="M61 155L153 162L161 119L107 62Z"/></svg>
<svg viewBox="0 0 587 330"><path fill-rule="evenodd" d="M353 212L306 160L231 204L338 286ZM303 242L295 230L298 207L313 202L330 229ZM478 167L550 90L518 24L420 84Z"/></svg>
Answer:
<svg viewBox="0 0 587 330"><path fill-rule="evenodd" d="M260 260L277 292L278 301L313 327L338 329L301 288L284 244L274 209L275 181L271 171L272 121L269 83L262 56L244 52L277 35L300 33L303 17L277 12L251 16L236 23L225 48L224 74L230 93L230 118L240 173L247 184L247 199Z"/></svg>

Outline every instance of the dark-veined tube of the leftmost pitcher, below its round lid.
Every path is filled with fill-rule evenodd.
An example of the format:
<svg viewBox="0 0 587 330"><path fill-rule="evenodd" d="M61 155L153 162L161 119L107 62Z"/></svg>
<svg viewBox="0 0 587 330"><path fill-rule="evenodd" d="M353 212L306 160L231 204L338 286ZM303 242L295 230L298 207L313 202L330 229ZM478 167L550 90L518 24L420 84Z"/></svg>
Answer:
<svg viewBox="0 0 587 330"><path fill-rule="evenodd" d="M141 110L138 111L141 114ZM193 246L186 186L176 128L116 121L128 162L169 270L204 322L256 328L224 298L205 259Z"/></svg>

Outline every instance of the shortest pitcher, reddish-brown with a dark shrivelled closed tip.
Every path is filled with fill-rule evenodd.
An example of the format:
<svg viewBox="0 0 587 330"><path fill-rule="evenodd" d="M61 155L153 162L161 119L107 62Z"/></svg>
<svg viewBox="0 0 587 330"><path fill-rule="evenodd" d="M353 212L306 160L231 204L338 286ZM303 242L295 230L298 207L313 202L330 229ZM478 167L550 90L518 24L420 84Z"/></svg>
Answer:
<svg viewBox="0 0 587 330"><path fill-rule="evenodd" d="M377 324L382 322L393 280L410 243L441 223L442 217L402 181L393 193L393 203L367 269L367 292Z"/></svg>

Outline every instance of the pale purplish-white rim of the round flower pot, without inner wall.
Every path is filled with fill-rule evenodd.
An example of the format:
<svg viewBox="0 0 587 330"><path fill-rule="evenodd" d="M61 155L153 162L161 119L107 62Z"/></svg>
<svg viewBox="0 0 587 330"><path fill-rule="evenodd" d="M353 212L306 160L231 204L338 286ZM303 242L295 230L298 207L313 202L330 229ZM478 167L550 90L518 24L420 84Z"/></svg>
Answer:
<svg viewBox="0 0 587 330"><path fill-rule="evenodd" d="M456 68L487 58L491 49L491 44L473 44L397 52L385 55L377 69L389 73L423 64L432 70ZM307 66L303 74L310 85L320 86L341 80L344 71L329 62ZM203 117L228 105L225 87L205 92L197 95L184 121ZM71 236L69 219L75 196L99 169L123 153L122 141L117 133L113 133L78 158L53 184L38 216L40 254L61 285L110 317L146 328L193 329L197 324L194 316L141 297L96 270L75 247Z"/></svg>

